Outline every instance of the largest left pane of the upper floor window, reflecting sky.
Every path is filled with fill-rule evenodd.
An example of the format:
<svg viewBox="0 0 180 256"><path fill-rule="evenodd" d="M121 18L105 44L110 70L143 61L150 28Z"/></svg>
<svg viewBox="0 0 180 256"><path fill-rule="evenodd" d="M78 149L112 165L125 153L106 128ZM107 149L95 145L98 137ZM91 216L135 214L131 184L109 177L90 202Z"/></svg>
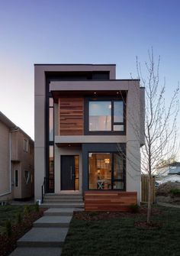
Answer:
<svg viewBox="0 0 180 256"><path fill-rule="evenodd" d="M89 102L89 131L111 131L111 102Z"/></svg>

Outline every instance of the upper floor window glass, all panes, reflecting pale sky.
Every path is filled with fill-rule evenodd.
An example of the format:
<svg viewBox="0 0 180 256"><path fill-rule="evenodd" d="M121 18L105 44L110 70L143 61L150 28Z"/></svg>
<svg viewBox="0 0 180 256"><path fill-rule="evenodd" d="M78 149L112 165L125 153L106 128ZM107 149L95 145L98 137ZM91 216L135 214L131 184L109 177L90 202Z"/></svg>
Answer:
<svg viewBox="0 0 180 256"><path fill-rule="evenodd" d="M123 100L89 100L88 131L124 132Z"/></svg>

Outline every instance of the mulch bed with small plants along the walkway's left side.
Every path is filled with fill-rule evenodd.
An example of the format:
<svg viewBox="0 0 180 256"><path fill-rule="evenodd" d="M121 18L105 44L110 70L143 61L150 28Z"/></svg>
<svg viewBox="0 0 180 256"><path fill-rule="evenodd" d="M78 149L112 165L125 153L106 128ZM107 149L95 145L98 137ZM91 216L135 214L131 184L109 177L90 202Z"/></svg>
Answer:
<svg viewBox="0 0 180 256"><path fill-rule="evenodd" d="M40 209L39 212L30 212L28 215L24 216L21 224L12 225L11 237L8 237L5 233L0 234L1 256L7 256L11 253L11 251L14 251L18 239L32 228L33 222L35 222L43 215L44 210L46 209Z"/></svg>

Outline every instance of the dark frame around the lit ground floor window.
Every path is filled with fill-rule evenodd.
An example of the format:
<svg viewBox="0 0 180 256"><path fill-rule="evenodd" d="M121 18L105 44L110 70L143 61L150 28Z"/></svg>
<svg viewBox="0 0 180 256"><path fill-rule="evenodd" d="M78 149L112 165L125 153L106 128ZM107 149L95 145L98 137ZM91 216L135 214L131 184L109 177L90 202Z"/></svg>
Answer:
<svg viewBox="0 0 180 256"><path fill-rule="evenodd" d="M124 155L124 153L118 152L118 151L113 151L113 152L104 152L104 151L88 151L89 153L93 153L93 154L103 154L103 153L108 153L111 154L111 190L105 190L105 191L114 191L114 190L118 190L118 191L126 191L127 189L127 180L126 180L126 156ZM123 179L114 179L114 154L120 154L123 157ZM88 157L88 167L89 167L89 157ZM114 181L123 181L124 182L124 189L114 189L113 188L113 183ZM89 188L89 169L88 169L88 190L91 191L97 191L98 189L90 189ZM102 190L104 191L104 190Z"/></svg>

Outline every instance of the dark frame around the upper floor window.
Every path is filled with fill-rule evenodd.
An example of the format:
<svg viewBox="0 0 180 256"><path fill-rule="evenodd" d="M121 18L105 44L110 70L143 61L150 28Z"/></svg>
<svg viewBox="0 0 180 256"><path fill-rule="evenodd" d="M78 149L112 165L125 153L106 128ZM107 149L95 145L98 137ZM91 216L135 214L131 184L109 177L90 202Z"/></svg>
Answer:
<svg viewBox="0 0 180 256"><path fill-rule="evenodd" d="M85 135L126 135L126 104L121 96L117 97L85 97L85 111L84 111L84 132ZM111 102L111 131L89 131L89 102ZM114 122L114 102L123 102L124 113L123 120L124 122ZM124 131L113 131L114 125L124 125Z"/></svg>

